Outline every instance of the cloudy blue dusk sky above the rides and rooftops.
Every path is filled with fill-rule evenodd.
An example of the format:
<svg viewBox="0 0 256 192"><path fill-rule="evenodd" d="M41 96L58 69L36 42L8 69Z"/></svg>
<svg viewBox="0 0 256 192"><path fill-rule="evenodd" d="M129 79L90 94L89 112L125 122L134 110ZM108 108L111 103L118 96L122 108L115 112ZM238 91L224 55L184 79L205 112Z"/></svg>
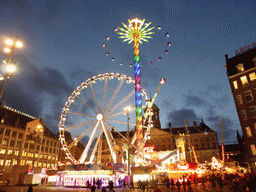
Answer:
<svg viewBox="0 0 256 192"><path fill-rule="evenodd" d="M255 13L256 2L249 0L3 0L1 60L9 58L3 52L7 37L18 35L24 46L15 50L18 71L7 80L1 100L42 117L57 133L62 108L83 81L111 72L134 77L129 67L133 45L122 43L114 29L128 19L145 18L161 26L140 46L140 56L141 85L148 96L153 97L160 78L166 79L155 101L162 128L168 128L168 122L184 127L184 120L191 126L203 118L221 139L222 116L225 141L236 141L241 127L224 55L234 57L235 50L256 40Z"/></svg>

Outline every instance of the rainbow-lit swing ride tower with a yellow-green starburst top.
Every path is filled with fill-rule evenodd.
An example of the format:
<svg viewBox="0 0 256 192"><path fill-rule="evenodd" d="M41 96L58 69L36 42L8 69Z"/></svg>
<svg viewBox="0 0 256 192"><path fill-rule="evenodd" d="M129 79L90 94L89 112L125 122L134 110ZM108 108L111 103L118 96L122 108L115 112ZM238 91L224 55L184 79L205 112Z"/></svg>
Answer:
<svg viewBox="0 0 256 192"><path fill-rule="evenodd" d="M147 29L151 24L145 23L145 19L132 19L129 20L129 25L122 23L125 29L118 27L122 32L117 34L121 35L119 38L124 39L123 42L128 41L128 44L133 42L133 51L134 51L134 80L135 80L135 107L136 107L136 135L137 135L137 156L143 158L143 128L142 128L142 101L141 101L141 83L140 83L140 49L139 44L142 44L142 41L148 42L147 39L152 38L150 32L154 27ZM143 26L144 25L144 26ZM143 27L143 28L142 28Z"/></svg>

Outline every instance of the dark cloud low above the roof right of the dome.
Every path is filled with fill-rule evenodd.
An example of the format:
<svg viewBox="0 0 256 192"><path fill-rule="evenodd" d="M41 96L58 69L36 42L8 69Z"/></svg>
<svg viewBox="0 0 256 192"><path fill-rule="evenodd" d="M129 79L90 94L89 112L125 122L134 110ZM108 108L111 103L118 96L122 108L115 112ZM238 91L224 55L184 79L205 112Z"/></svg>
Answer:
<svg viewBox="0 0 256 192"><path fill-rule="evenodd" d="M200 122L200 118L196 115L192 109L180 109L172 111L169 114L169 119L173 127L184 127L184 120L187 121L188 126L193 125L193 121Z"/></svg>

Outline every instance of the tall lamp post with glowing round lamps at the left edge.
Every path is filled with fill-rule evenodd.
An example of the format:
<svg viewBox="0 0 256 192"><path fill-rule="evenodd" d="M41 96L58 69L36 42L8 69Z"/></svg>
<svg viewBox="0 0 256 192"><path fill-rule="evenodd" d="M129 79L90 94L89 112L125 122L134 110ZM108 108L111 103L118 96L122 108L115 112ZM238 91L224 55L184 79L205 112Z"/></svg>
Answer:
<svg viewBox="0 0 256 192"><path fill-rule="evenodd" d="M16 65L18 63L16 63L15 61L12 61L14 50L15 50L16 47L22 47L23 46L23 44L20 41L18 41L18 37L16 37L14 42L10 39L7 39L5 43L7 45L11 46L11 48L6 47L4 49L4 52L11 53L11 55L10 55L9 60L5 59L3 61L4 64L6 64L6 74L2 76L3 83L2 83L2 86L1 86L1 89L0 89L0 99L1 99L3 91L4 91L4 86L5 86L5 83L6 83L6 79L9 78L16 71Z"/></svg>

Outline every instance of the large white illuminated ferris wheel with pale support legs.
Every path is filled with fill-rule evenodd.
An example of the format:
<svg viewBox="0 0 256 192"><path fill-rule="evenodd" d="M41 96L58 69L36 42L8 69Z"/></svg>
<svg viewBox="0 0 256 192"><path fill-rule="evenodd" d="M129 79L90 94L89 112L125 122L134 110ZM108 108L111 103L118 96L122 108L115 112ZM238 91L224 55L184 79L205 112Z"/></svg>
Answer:
<svg viewBox="0 0 256 192"><path fill-rule="evenodd" d="M142 102L145 101L142 106L145 108L148 98L144 89L141 93L144 96ZM78 86L65 103L59 123L60 142L67 158L73 163L94 162L95 153L100 151L101 140L105 135L111 156L116 163L116 143L110 128L115 127L116 131L126 130L124 107L135 105L134 94L134 80L119 73L100 74ZM132 115L134 111L135 108L132 107L130 126L136 125L136 117ZM65 138L66 131L73 137L71 143ZM80 158L75 159L70 149L79 141L84 142L85 149Z"/></svg>

